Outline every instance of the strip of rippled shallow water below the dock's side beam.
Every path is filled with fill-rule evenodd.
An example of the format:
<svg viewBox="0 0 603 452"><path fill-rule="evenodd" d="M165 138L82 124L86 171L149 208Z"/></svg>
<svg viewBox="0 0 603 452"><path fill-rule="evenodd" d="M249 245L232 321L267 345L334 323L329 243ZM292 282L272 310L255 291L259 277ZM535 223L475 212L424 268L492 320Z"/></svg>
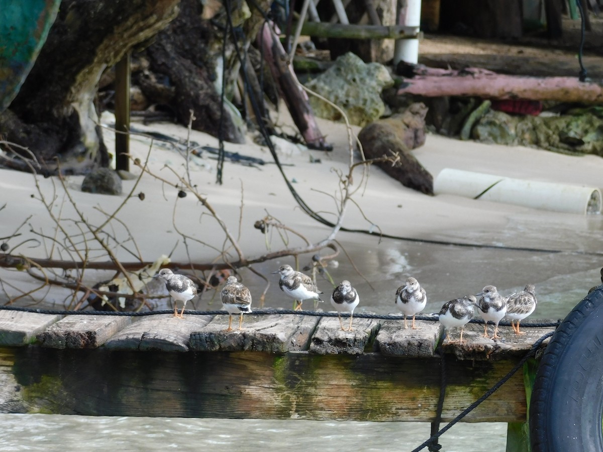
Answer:
<svg viewBox="0 0 603 452"><path fill-rule="evenodd" d="M410 451L429 436L416 422L261 421L0 415L2 451ZM458 424L446 452L502 452L507 424Z"/></svg>

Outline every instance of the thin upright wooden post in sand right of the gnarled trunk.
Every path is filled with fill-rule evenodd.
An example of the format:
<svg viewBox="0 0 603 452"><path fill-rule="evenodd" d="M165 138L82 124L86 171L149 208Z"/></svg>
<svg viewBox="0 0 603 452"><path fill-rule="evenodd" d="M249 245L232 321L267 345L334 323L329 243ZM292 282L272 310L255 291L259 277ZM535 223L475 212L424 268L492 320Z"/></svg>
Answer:
<svg viewBox="0 0 603 452"><path fill-rule="evenodd" d="M130 171L130 52L115 65L115 169Z"/></svg>

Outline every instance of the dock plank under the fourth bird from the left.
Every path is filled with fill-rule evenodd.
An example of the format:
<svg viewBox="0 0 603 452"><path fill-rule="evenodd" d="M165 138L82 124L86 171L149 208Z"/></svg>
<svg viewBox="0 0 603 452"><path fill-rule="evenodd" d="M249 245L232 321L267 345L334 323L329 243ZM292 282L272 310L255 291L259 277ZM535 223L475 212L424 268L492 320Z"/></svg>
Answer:
<svg viewBox="0 0 603 452"><path fill-rule="evenodd" d="M342 317L342 320L344 327L347 327L349 317ZM379 326L380 321L377 319L355 318L352 320L353 331L343 331L338 318L323 317L312 335L310 351L323 355L364 353L377 334Z"/></svg>

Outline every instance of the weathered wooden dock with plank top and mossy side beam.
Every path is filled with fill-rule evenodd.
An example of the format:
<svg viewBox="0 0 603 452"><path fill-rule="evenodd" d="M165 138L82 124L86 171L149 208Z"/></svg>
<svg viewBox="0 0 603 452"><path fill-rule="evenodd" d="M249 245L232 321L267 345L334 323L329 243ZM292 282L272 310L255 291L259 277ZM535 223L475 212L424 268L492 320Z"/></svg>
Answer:
<svg viewBox="0 0 603 452"><path fill-rule="evenodd" d="M528 322L526 322L527 324ZM437 321L246 315L142 317L0 310L0 412L210 418L432 421L446 360L442 421L481 397L553 327L444 344ZM491 327L490 327L491 328ZM453 330L454 337L458 331ZM544 347L544 345L543 345ZM522 372L466 422L524 422Z"/></svg>

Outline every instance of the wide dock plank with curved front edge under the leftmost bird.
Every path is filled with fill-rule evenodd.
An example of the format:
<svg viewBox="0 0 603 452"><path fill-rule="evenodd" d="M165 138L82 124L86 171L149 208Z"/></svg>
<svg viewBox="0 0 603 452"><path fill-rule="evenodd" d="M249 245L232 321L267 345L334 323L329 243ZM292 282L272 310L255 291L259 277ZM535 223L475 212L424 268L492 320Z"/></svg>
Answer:
<svg viewBox="0 0 603 452"><path fill-rule="evenodd" d="M104 345L110 350L188 351L191 333L212 320L209 315L172 314L140 318L111 337Z"/></svg>

